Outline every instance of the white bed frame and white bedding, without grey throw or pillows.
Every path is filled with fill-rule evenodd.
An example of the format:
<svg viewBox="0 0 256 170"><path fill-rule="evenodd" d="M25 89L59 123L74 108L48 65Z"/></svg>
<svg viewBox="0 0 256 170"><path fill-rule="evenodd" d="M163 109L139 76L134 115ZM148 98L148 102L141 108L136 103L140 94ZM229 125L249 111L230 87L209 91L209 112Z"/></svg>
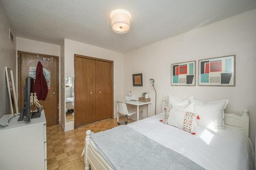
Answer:
<svg viewBox="0 0 256 170"><path fill-rule="evenodd" d="M248 138L248 110L243 110L241 116L225 113L225 128L199 127L196 135L162 124L159 120L163 118L164 113L160 113L126 126L205 169L253 169L254 151ZM115 169L100 152L91 135L92 132L88 130L84 148L86 170Z"/></svg>

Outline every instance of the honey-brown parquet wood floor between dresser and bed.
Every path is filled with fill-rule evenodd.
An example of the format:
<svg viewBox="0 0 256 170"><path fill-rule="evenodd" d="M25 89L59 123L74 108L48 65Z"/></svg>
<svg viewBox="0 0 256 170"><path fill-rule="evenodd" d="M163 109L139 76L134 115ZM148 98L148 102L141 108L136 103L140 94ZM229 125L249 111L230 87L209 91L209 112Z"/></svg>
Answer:
<svg viewBox="0 0 256 170"><path fill-rule="evenodd" d="M83 169L81 153L86 131L100 132L117 126L117 119L107 119L64 132L60 125L47 127L47 169ZM124 117L120 117L124 122ZM133 122L133 120L129 120Z"/></svg>

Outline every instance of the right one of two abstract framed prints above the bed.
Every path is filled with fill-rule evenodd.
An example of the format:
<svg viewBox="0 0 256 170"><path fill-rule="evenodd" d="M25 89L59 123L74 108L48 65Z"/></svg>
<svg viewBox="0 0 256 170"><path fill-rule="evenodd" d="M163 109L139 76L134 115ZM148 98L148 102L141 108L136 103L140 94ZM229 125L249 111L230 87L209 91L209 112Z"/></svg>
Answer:
<svg viewBox="0 0 256 170"><path fill-rule="evenodd" d="M235 86L236 55L198 61L199 86Z"/></svg>

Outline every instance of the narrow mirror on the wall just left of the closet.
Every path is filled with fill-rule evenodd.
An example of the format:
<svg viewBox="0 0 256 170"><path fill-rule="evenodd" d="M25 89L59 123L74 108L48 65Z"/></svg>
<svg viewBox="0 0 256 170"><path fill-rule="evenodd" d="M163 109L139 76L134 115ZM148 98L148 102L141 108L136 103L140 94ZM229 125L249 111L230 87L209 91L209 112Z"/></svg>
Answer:
<svg viewBox="0 0 256 170"><path fill-rule="evenodd" d="M66 123L74 122L74 77L66 77Z"/></svg>

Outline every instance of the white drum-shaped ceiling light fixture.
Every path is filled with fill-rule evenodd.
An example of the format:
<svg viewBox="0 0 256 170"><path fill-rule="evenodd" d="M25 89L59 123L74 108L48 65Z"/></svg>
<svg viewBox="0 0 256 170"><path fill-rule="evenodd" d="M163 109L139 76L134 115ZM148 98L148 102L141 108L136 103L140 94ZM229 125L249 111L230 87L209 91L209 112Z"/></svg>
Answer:
<svg viewBox="0 0 256 170"><path fill-rule="evenodd" d="M131 14L123 9L115 9L110 13L111 28L115 33L127 33L131 27Z"/></svg>

